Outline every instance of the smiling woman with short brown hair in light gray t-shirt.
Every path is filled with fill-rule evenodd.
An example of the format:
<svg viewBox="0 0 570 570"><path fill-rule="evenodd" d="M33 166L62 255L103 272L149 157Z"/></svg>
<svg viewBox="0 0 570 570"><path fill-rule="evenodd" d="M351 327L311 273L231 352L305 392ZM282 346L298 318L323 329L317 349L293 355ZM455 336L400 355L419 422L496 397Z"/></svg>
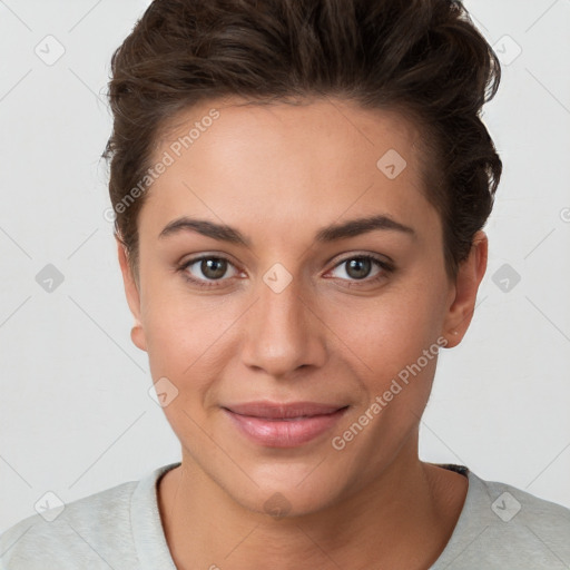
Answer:
<svg viewBox="0 0 570 570"><path fill-rule="evenodd" d="M155 0L105 156L183 460L21 521L3 567L567 568L568 509L417 455L485 273L499 80L451 0Z"/></svg>

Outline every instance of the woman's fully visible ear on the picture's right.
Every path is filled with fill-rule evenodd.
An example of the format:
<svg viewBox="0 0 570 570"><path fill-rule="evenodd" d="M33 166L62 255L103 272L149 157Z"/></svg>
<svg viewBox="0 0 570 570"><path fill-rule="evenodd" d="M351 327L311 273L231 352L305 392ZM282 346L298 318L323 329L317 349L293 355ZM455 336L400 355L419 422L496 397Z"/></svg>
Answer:
<svg viewBox="0 0 570 570"><path fill-rule="evenodd" d="M469 328L475 309L479 285L487 271L488 248L487 234L479 230L473 237L469 257L458 271L454 294L451 295L443 325L443 336L448 340L446 348L456 346Z"/></svg>

